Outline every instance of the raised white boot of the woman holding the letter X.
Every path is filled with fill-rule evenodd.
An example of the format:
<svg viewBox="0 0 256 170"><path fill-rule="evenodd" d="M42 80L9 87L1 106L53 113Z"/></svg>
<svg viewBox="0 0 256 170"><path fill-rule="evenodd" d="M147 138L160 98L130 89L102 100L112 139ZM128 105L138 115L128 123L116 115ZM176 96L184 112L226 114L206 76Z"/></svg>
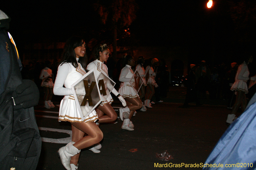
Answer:
<svg viewBox="0 0 256 170"><path fill-rule="evenodd" d="M72 142L59 149L58 155L64 168L66 168L67 170L71 170L70 159L72 156L75 156L80 151L81 150L78 150L75 146L72 145Z"/></svg>

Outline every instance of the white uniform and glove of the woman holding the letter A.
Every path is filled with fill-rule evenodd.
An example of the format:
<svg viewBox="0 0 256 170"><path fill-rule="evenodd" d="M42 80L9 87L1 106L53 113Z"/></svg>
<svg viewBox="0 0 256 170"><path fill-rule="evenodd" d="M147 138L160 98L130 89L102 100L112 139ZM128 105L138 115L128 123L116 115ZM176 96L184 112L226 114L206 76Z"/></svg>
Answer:
<svg viewBox="0 0 256 170"><path fill-rule="evenodd" d="M106 66L106 64L104 64L104 62L102 63L102 62L101 62L100 60L98 60L98 59L97 59L97 60L94 60L92 63L89 63L89 64L87 65L87 69L88 69L88 70L94 70L94 74L95 74L96 77L99 76L100 71L101 71L104 75L108 76L108 67ZM106 91L109 92L108 87L107 87L107 82L106 82L106 81L104 81L104 85L105 85ZM115 94L115 95L118 95L118 94L119 94L119 93L116 91L115 88L113 88L112 93ZM109 94L109 96L108 96L107 100L105 101L105 103L111 104L113 101L114 101L114 100L112 99L111 94Z"/></svg>

